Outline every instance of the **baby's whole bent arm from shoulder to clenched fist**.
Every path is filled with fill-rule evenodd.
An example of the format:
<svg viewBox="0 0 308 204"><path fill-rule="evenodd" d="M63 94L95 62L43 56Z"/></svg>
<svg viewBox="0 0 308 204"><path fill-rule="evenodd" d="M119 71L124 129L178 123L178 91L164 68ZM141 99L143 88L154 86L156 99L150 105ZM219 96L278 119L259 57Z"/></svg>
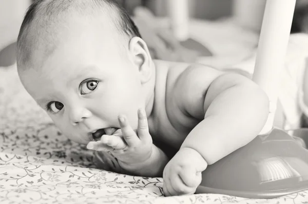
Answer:
<svg viewBox="0 0 308 204"><path fill-rule="evenodd" d="M177 101L201 122L164 170L166 195L194 193L207 165L252 141L268 116L267 95L246 77L205 66L185 72L178 80Z"/></svg>

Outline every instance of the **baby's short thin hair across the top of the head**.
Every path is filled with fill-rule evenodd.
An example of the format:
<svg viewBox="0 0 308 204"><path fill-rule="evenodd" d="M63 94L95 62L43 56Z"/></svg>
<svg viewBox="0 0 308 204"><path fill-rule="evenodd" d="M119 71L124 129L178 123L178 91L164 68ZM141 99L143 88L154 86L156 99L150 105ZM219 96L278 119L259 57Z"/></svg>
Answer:
<svg viewBox="0 0 308 204"><path fill-rule="evenodd" d="M111 18L114 28L120 34L125 35L128 40L135 36L141 37L128 12L115 0L35 0L26 12L18 34L17 67L28 63L31 52L37 48L40 42L46 42L40 32L48 33L48 39L52 40L52 43L46 44L45 52L54 50L56 40L52 34L55 32L54 24L60 22L61 16L70 11L77 12L80 15L97 17L100 17L102 13L107 14ZM62 19L65 21L65 16ZM110 22L106 22L110 24ZM40 37L37 37L37 35L40 35Z"/></svg>

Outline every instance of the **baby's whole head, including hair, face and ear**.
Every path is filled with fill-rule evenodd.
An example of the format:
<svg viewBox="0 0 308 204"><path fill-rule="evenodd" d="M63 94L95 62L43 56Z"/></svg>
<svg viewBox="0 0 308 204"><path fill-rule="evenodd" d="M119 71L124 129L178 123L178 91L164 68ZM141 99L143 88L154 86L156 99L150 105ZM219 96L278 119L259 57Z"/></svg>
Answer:
<svg viewBox="0 0 308 204"><path fill-rule="evenodd" d="M55 125L82 144L95 130L112 134L119 114L137 129L155 80L138 29L112 0L35 1L18 35L17 69Z"/></svg>

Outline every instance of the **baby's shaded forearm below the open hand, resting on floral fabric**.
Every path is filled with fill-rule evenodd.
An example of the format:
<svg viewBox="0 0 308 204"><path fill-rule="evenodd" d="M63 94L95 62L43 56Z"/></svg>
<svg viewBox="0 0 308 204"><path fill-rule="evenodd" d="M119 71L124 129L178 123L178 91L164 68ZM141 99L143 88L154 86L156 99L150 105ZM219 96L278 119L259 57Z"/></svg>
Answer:
<svg viewBox="0 0 308 204"><path fill-rule="evenodd" d="M164 168L168 161L169 158L167 155L160 148L152 145L152 153L148 160L133 165L127 165L119 161L119 164L126 174L146 177L162 177Z"/></svg>

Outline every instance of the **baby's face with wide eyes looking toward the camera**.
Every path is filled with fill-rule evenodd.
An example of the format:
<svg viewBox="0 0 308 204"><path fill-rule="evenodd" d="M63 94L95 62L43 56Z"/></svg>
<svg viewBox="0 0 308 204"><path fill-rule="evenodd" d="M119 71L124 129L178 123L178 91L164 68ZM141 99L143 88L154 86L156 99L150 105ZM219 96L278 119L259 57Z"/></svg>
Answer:
<svg viewBox="0 0 308 204"><path fill-rule="evenodd" d="M121 54L112 33L100 35L96 29L71 29L40 67L20 73L55 125L81 144L99 129L112 134L120 128L119 114L137 129L137 110L145 106L138 67Z"/></svg>

